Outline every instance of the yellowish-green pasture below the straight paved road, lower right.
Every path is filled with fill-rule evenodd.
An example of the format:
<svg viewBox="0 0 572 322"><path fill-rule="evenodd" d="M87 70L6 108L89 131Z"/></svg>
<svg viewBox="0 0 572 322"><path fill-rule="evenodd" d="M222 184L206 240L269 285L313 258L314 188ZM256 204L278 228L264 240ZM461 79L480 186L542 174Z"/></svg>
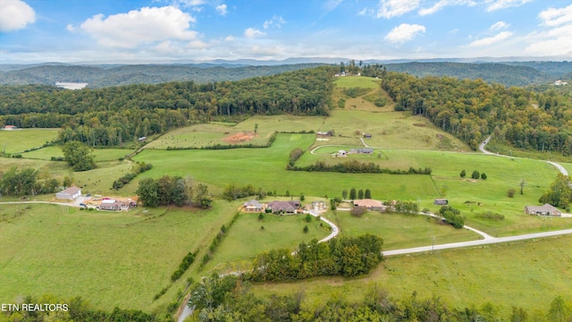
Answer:
<svg viewBox="0 0 572 322"><path fill-rule="evenodd" d="M303 305L315 306L341 296L364 301L372 289L404 299L433 295L453 308L492 303L509 318L512 306L530 313L550 309L557 296L572 294L572 236L509 242L457 250L439 250L385 258L374 273L357 278L315 278L299 283L256 284L259 296L303 292ZM530 316L529 316L530 318Z"/></svg>

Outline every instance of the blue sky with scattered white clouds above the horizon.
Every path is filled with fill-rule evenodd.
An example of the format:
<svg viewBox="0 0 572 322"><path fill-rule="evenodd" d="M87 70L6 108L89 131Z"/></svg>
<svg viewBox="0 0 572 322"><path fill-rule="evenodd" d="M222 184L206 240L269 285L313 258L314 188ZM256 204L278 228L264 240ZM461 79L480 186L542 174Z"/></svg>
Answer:
<svg viewBox="0 0 572 322"><path fill-rule="evenodd" d="M0 64L572 60L571 0L0 0Z"/></svg>

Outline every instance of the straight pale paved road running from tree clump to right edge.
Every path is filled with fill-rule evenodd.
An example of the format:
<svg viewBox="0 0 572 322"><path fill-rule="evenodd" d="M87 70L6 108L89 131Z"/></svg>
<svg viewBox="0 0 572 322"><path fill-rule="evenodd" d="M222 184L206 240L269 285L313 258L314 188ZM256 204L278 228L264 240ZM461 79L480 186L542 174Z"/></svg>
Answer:
<svg viewBox="0 0 572 322"><path fill-rule="evenodd" d="M479 246L479 245L486 245L486 244L500 243L500 242L517 242L535 238L558 236L563 234L572 234L572 229L565 229L565 230L545 232L545 233L526 233L523 235L498 237L498 238L491 237L489 239L478 240L478 241L452 242L448 244L423 246L405 250L385 250L382 253L383 256L395 256L395 255L412 254L412 253L432 251L432 250L449 250L454 248Z"/></svg>

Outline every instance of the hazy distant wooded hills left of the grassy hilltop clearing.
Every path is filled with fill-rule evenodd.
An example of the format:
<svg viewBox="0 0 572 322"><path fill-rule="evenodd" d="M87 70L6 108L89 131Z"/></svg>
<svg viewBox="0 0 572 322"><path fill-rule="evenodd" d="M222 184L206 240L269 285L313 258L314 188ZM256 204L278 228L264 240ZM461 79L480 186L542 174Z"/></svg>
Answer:
<svg viewBox="0 0 572 322"><path fill-rule="evenodd" d="M46 64L0 72L0 84L55 85L55 82L86 82L91 89L130 84L158 84L193 80L199 83L244 80L282 72L313 68L322 64L276 66L216 66L210 64L130 64L122 66L80 66Z"/></svg>

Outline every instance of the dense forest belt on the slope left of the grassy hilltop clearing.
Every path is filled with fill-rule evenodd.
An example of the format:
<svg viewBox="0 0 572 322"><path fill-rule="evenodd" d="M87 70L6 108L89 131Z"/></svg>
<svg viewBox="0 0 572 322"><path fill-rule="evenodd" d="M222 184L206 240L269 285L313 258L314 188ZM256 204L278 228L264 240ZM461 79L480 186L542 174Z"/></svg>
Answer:
<svg viewBox="0 0 572 322"><path fill-rule="evenodd" d="M64 90L0 87L0 125L63 127L59 140L122 145L214 117L246 114L327 115L332 67L248 80L193 81Z"/></svg>

